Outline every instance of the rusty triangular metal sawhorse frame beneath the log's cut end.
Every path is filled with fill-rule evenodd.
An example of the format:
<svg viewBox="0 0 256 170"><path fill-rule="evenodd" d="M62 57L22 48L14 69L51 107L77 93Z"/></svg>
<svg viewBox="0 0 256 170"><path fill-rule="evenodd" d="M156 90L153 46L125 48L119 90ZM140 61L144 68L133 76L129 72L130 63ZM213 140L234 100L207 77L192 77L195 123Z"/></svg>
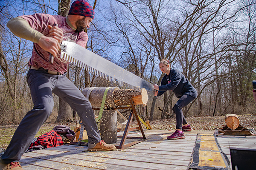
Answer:
<svg viewBox="0 0 256 170"><path fill-rule="evenodd" d="M119 109L120 109L120 108L119 108ZM129 128L130 128L130 126L131 126L131 121L132 121L132 119L133 119L133 115L135 115L135 117L136 117L136 119L137 119L137 123L138 123L138 125L139 125L139 127L140 127L140 131L141 131L141 134L142 134L143 137L129 137L129 136L128 136L128 132L129 132ZM117 149L121 149L121 150L122 150L122 149L125 149L125 148L127 148L127 147L130 147L130 146L132 146L132 145L134 145L134 144L137 144L137 143L140 143L140 142L143 142L143 141L147 140L147 139L146 139L146 136L145 136L145 134L144 134L143 128L142 128L142 126L141 126L141 124L140 124L140 119L139 119L139 116L138 116L138 114L137 114L137 112L136 112L136 109L135 109L135 106L134 106L134 102L132 101L132 99L131 99L131 113L130 113L130 115L129 115L129 119L128 119L128 122L127 122L127 124L126 124L125 131L124 131L124 133L123 133L123 136L117 136L117 137L122 137L122 140L121 140L120 144L119 144L119 145L116 145L116 148L117 148ZM135 141L135 142L130 142L130 143L128 143L128 144L125 144L125 140L126 140L126 139L140 139L140 140Z"/></svg>

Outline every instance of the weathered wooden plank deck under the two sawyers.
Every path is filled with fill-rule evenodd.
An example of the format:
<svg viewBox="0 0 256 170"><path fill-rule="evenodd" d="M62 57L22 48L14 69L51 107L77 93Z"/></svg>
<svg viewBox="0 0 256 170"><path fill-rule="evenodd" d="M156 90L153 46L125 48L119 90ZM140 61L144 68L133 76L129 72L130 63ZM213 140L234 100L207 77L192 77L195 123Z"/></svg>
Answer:
<svg viewBox="0 0 256 170"><path fill-rule="evenodd" d="M86 146L77 145L38 150L23 154L20 164L24 170L186 170L197 134L214 133L192 130L185 132L185 139L167 140L173 132L144 130L147 140L125 150L88 152ZM128 136L141 136L141 133L129 132ZM217 139L229 159L229 147L256 149L255 136L218 136ZM125 143L131 141L136 140L126 139Z"/></svg>

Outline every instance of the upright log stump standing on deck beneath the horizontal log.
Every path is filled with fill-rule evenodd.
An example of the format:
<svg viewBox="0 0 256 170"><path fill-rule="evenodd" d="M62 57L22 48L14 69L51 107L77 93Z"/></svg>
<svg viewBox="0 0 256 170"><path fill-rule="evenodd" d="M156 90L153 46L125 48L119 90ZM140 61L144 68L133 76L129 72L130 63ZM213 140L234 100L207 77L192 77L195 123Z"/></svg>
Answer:
<svg viewBox="0 0 256 170"><path fill-rule="evenodd" d="M103 111L99 125L101 139L107 144L117 142L117 112L116 110Z"/></svg>

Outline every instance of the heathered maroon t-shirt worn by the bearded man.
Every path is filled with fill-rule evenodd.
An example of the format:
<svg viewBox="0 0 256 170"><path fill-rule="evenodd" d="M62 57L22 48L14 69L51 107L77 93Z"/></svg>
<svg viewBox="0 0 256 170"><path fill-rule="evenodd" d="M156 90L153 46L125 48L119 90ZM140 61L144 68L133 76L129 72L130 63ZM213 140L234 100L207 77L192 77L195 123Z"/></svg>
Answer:
<svg viewBox="0 0 256 170"><path fill-rule="evenodd" d="M53 26L54 23L58 24L58 27L63 31L63 40L76 42L76 44L81 45L85 48L88 36L82 32L76 32L72 29L66 22L66 17L58 15L49 14L33 14L33 15L23 15L19 16L25 19L29 25L47 36L49 34L48 25ZM49 63L49 52L43 50L37 43L34 43L32 57L29 59L29 65L36 68L44 68L50 71L58 71L61 74L67 72L67 65L69 62L60 58L60 52L57 57L54 57L53 63Z"/></svg>

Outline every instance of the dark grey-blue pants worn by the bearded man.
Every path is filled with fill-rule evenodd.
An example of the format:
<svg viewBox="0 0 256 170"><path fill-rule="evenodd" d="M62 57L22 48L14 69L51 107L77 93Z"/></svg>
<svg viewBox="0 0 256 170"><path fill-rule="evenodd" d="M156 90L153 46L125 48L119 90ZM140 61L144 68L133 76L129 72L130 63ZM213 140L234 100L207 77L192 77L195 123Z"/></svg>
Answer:
<svg viewBox="0 0 256 170"><path fill-rule="evenodd" d="M41 125L52 113L54 106L52 93L59 96L77 112L87 131L88 142L96 144L100 134L90 102L65 75L48 74L43 68L29 70L27 83L30 88L34 108L17 127L6 152L1 158L3 164L20 160L31 144Z"/></svg>

